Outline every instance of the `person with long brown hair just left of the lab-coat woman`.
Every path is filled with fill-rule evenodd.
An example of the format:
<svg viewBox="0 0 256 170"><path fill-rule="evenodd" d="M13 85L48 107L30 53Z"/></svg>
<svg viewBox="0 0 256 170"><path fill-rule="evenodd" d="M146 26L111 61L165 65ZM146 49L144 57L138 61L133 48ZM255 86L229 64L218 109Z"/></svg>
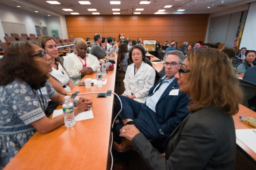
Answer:
<svg viewBox="0 0 256 170"><path fill-rule="evenodd" d="M120 71L126 72L128 67L128 58L129 58L129 50L127 48L126 43L122 43L119 46L119 51L117 54L118 63L120 63Z"/></svg>

